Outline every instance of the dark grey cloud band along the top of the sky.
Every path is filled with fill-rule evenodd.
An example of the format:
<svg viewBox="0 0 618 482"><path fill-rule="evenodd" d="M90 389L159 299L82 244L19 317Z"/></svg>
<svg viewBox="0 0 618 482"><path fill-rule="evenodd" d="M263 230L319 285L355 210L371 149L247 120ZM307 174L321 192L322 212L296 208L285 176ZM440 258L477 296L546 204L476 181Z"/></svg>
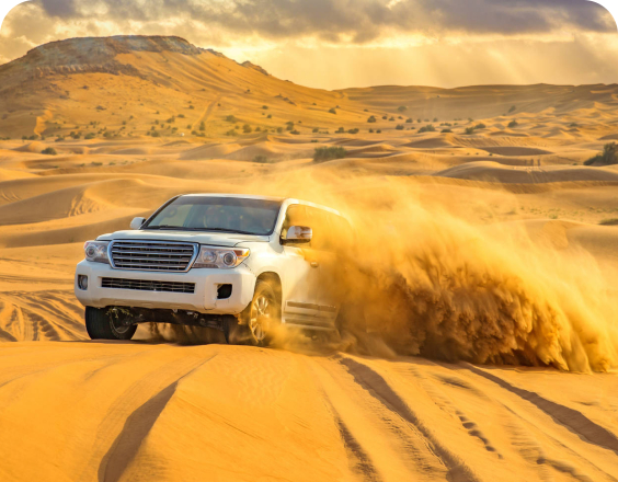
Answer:
<svg viewBox="0 0 618 482"><path fill-rule="evenodd" d="M270 38L313 35L363 44L385 30L442 34L611 32L608 12L586 0L37 0L48 15L156 22L171 18Z"/></svg>

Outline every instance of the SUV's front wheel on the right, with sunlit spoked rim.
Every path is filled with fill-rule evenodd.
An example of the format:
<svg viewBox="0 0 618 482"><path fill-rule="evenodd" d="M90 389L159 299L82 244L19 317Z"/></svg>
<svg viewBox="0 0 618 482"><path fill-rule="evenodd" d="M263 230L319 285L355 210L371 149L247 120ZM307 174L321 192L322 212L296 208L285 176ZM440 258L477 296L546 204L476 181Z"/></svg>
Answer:
<svg viewBox="0 0 618 482"><path fill-rule="evenodd" d="M262 279L255 284L253 299L242 315L245 343L253 346L268 346L276 328L281 324L281 306L273 287Z"/></svg>

